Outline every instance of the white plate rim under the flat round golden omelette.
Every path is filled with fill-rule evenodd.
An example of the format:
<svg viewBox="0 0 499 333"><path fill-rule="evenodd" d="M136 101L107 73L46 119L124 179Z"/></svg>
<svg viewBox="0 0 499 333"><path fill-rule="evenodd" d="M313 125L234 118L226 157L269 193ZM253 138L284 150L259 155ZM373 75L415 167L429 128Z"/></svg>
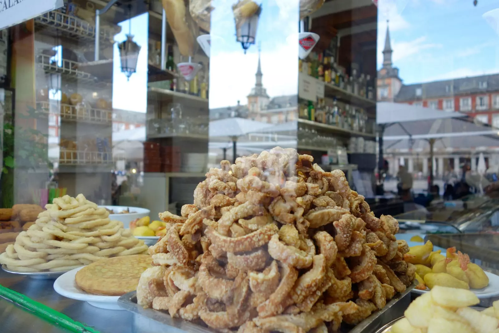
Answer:
<svg viewBox="0 0 499 333"><path fill-rule="evenodd" d="M83 266L85 267L85 266ZM76 272L83 267L75 268L67 273L64 273L54 282L54 290L57 294L69 299L85 301L88 304L101 309L107 310L123 310L118 306L119 296L99 296L88 294L76 286L74 277Z"/></svg>

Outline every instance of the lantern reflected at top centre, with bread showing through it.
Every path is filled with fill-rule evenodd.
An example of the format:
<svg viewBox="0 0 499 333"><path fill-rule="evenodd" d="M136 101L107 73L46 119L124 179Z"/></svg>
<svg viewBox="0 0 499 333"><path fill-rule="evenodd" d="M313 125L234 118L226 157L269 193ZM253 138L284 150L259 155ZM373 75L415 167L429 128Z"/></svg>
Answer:
<svg viewBox="0 0 499 333"><path fill-rule="evenodd" d="M258 27L261 6L253 1L239 7L238 5L239 3L233 6L234 19L236 21L236 40L241 43L246 54L246 50L251 44L254 44L256 39L256 28Z"/></svg>

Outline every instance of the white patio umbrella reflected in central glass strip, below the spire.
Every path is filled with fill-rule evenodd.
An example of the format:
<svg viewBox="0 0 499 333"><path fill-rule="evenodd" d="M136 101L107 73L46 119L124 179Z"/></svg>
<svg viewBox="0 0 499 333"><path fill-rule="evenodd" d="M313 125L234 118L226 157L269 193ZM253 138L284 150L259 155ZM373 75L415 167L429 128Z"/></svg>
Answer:
<svg viewBox="0 0 499 333"><path fill-rule="evenodd" d="M236 145L240 136L258 132L274 125L263 123L251 119L240 117L231 117L219 120L210 121L209 136L212 137L225 137L228 136L232 140L232 153L234 163L236 162L237 152ZM224 155L227 148L224 149Z"/></svg>

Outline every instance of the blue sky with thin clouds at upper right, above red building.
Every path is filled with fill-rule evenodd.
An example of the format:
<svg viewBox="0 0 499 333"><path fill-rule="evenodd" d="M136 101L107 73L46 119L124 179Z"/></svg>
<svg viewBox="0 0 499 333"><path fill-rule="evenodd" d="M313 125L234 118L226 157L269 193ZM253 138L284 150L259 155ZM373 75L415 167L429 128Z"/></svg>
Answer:
<svg viewBox="0 0 499 333"><path fill-rule="evenodd" d="M378 68L389 17L393 61L405 84L498 73L499 34L483 14L499 0L478 2L380 0Z"/></svg>

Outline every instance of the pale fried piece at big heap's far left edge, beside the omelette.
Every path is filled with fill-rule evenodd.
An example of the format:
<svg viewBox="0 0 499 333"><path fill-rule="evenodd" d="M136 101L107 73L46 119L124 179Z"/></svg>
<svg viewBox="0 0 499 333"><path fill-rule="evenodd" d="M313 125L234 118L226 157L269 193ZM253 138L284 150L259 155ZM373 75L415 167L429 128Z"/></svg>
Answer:
<svg viewBox="0 0 499 333"><path fill-rule="evenodd" d="M161 292L164 291L163 276L166 268L155 266L145 270L139 279L137 285L137 304L144 307L152 307L153 300L157 296L165 296ZM159 288L156 288L159 286ZM161 288L162 287L162 288Z"/></svg>

